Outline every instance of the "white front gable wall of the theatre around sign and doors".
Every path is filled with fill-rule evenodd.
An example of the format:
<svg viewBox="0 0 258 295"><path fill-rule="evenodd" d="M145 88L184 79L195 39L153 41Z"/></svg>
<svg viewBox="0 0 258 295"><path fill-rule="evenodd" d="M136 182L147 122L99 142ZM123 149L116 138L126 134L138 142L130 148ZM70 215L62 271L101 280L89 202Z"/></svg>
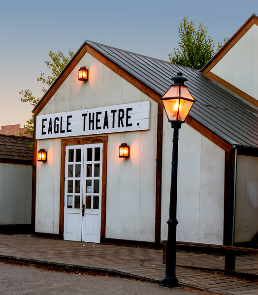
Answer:
<svg viewBox="0 0 258 295"><path fill-rule="evenodd" d="M89 69L87 83L78 81L81 66ZM157 102L86 53L39 115L142 101L150 101L150 130L107 134L105 236L153 242ZM130 146L129 159L118 157L125 142ZM39 148L47 150L48 160L37 162L35 231L59 234L61 138L38 140Z"/></svg>

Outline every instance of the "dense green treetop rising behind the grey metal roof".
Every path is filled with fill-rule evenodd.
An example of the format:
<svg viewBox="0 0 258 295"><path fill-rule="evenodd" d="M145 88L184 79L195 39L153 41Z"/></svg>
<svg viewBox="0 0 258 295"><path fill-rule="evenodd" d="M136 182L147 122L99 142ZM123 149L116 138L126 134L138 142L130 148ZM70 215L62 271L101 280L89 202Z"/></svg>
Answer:
<svg viewBox="0 0 258 295"><path fill-rule="evenodd" d="M183 23L178 27L180 41L179 47L169 54L169 59L173 63L186 65L195 69L201 69L226 43L228 38L219 42L215 48L212 37L207 35L208 27L203 23L195 29L194 21L189 22L184 17Z"/></svg>

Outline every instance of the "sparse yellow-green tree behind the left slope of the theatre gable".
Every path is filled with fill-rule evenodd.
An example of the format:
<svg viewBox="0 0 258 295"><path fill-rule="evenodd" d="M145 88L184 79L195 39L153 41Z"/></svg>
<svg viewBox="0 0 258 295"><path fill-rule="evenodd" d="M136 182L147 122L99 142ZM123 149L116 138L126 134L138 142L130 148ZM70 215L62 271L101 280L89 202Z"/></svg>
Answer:
<svg viewBox="0 0 258 295"><path fill-rule="evenodd" d="M57 79L59 74L65 68L66 64L73 57L74 53L72 51L69 51L68 57L65 57L61 51L58 51L58 53L54 53L53 50L51 50L48 55L49 55L51 61L46 60L45 64L47 65L47 67L49 69L51 69L52 75L45 76L44 72L40 72L40 77L37 78L37 81L39 81L43 84L43 88L41 89L42 95L45 94L47 89ZM47 89L45 88L45 85L47 86ZM38 101L40 99L40 97L35 98L35 96L33 96L32 91L30 89L20 90L19 93L23 96L21 98L21 101L22 102L30 102L33 107L38 103ZM34 122L34 118L32 115L32 118L27 120L27 124L24 125L24 128L27 128L27 130L24 132L25 134L31 134L33 136L33 122Z"/></svg>

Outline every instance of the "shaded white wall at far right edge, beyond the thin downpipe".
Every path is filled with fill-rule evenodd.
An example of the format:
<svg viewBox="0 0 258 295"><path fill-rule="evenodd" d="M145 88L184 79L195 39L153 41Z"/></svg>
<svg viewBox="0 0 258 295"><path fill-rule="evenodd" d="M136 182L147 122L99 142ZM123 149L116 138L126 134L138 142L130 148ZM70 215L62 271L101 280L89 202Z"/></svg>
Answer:
<svg viewBox="0 0 258 295"><path fill-rule="evenodd" d="M237 156L235 242L258 232L258 157Z"/></svg>

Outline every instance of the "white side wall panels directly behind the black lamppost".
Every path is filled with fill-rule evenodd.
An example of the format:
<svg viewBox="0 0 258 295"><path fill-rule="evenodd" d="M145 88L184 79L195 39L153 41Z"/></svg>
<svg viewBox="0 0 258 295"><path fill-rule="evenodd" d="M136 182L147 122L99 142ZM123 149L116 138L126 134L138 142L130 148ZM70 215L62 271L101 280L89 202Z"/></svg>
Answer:
<svg viewBox="0 0 258 295"><path fill-rule="evenodd" d="M167 239L173 129L163 118L161 240ZM179 129L177 240L223 244L225 151L188 124Z"/></svg>

